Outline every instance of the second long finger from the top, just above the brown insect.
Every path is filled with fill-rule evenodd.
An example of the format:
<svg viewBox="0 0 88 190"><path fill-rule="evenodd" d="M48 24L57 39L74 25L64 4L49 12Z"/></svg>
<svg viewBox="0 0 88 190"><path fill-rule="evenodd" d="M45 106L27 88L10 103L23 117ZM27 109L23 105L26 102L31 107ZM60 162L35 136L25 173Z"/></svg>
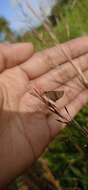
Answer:
<svg viewBox="0 0 88 190"><path fill-rule="evenodd" d="M82 71L88 70L88 54L76 58L75 64L80 66ZM45 91L58 88L61 85L60 82L65 84L72 80L76 75L76 70L73 68L71 63L66 62L65 64L59 65L57 68L31 81L29 88L37 88L40 93L44 93Z"/></svg>

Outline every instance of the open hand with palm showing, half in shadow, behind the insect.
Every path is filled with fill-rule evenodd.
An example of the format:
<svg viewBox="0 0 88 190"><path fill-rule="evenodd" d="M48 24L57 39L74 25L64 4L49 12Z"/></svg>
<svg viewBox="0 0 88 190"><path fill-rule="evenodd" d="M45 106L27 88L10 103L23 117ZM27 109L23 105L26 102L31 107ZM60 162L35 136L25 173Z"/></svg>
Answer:
<svg viewBox="0 0 88 190"><path fill-rule="evenodd" d="M88 37L63 46L88 79ZM0 188L27 169L64 127L32 95L34 88L40 94L63 89L65 94L56 106L66 117L65 105L74 117L88 101L88 90L80 84L60 45L33 53L28 43L0 45Z"/></svg>

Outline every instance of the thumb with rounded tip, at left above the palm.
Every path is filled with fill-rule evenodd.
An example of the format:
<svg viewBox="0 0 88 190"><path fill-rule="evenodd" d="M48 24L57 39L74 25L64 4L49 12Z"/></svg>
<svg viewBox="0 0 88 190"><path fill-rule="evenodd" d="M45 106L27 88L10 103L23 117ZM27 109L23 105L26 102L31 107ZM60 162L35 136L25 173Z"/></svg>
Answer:
<svg viewBox="0 0 88 190"><path fill-rule="evenodd" d="M23 63L33 51L31 43L0 44L0 72Z"/></svg>

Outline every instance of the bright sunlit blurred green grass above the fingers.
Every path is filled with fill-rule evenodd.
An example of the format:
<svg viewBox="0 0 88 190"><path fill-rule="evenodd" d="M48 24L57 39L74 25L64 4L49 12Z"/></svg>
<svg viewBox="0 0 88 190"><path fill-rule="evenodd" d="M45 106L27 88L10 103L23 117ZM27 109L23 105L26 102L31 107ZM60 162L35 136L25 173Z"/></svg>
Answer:
<svg viewBox="0 0 88 190"><path fill-rule="evenodd" d="M62 3L56 9L57 14L62 18L53 31L57 37L57 43L88 34L88 0L78 0L74 8L71 8L71 0L68 3ZM55 12L55 13L56 13ZM65 23L65 24L64 24ZM44 31L43 27L37 29L43 36L43 42L39 42L30 32L23 37L23 41L33 42L36 50L41 50L53 45L53 41Z"/></svg>

